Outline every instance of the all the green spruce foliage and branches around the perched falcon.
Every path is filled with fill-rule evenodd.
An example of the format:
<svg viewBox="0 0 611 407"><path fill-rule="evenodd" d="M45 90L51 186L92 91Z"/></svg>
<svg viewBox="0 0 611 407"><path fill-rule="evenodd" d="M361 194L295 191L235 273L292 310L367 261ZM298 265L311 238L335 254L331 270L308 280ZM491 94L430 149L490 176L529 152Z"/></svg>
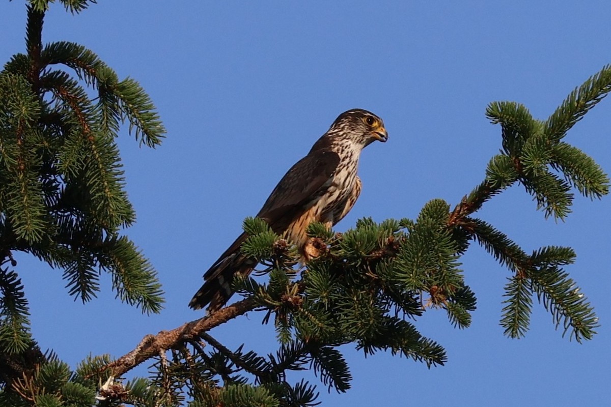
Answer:
<svg viewBox="0 0 611 407"><path fill-rule="evenodd" d="M61 1L73 13L92 2ZM390 351L429 367L442 365L444 348L420 334L415 322L437 308L453 326L470 325L477 297L465 283L461 256L474 242L508 270L500 317L507 336L525 335L535 297L563 335L582 342L596 333L593 308L564 268L574 251L544 246L529 254L476 213L515 184L545 217L560 220L571 212L575 191L590 198L609 193L602 168L563 140L611 90L611 65L571 92L546 120L533 118L521 104L491 103L486 115L500 124L502 149L483 181L455 207L431 200L415 219L364 218L343 234L314 223L309 234L321 255L307 268L296 267L290 241L263 220L247 218L242 251L260 262L258 274L266 278L235 281L245 300L147 335L119 359L89 356L71 370L53 353L42 353L29 331L14 251L64 270L68 294L82 301L95 297L105 271L120 300L143 312L161 309L155 271L120 235L134 222L134 211L115 138L124 122L147 146L158 145L165 132L133 79L120 81L75 43L42 45L48 6L45 0L29 2L27 52L0 72L0 404L313 406L315 386L291 382L287 373L312 369L324 386L347 391L352 376L341 345L353 344L364 355ZM277 351L259 355L245 345L230 350L208 333L253 310L273 325ZM150 358L150 377L119 380Z"/></svg>

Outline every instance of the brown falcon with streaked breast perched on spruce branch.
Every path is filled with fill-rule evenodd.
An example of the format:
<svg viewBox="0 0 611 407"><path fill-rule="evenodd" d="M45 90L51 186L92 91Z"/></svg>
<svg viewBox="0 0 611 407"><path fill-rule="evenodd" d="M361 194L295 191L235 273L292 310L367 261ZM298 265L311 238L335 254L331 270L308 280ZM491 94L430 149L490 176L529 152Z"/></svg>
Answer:
<svg viewBox="0 0 611 407"><path fill-rule="evenodd" d="M375 114L362 109L343 112L307 156L280 179L257 217L295 243L303 263L309 261L315 250L309 246L308 226L322 222L331 228L348 214L360 195L360 152L375 140L387 139L384 123ZM249 275L257 265L255 259L240 253L247 237L242 233L203 275L205 283L189 307L200 309L209 304L211 314L227 303L233 294L233 276Z"/></svg>

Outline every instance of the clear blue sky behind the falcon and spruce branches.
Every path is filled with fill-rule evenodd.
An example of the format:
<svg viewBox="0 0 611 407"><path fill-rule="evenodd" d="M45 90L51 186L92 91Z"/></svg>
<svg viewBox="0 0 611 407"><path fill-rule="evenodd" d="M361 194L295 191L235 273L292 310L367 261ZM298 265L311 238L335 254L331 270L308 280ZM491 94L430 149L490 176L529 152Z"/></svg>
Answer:
<svg viewBox="0 0 611 407"><path fill-rule="evenodd" d="M611 63L611 3L590 2L145 2L105 1L72 16L54 5L43 41L70 40L97 52L120 77L137 79L168 129L158 149L120 138L127 190L138 222L126 234L150 258L166 309L147 317L114 300L108 277L87 304L75 302L60 270L18 256L43 348L75 365L90 352L116 357L148 333L200 316L187 303L202 273L254 215L285 171L344 110L382 117L386 144L365 149L357 218L417 216L426 201L458 203L500 148L488 103L525 104L546 118L588 76ZM24 51L24 5L0 2L0 59ZM566 141L611 170L611 99ZM499 326L509 273L483 249L463 258L478 297L472 326L456 330L444 311L426 312L420 331L445 346L445 367L381 353L365 359L343 347L353 389L327 406L603 405L611 399L609 274L611 198L576 197L564 223L544 220L514 187L479 216L531 251L564 245L568 267L598 312L599 334L585 344L554 330L535 300L531 329L511 340ZM274 348L271 326L249 314L211 332L230 348ZM75 322L78 322L75 324ZM139 374L145 374L144 369ZM295 376L297 378L298 376ZM316 383L311 375L309 380Z"/></svg>

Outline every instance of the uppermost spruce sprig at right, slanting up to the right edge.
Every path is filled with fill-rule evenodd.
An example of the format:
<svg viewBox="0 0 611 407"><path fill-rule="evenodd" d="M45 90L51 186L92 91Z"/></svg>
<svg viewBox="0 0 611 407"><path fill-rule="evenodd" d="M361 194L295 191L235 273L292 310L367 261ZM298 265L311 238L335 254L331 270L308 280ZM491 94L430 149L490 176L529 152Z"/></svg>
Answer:
<svg viewBox="0 0 611 407"><path fill-rule="evenodd" d="M552 143L565 137L577 121L601 101L611 90L611 65L590 76L578 88L569 93L560 107L544 123L544 134Z"/></svg>

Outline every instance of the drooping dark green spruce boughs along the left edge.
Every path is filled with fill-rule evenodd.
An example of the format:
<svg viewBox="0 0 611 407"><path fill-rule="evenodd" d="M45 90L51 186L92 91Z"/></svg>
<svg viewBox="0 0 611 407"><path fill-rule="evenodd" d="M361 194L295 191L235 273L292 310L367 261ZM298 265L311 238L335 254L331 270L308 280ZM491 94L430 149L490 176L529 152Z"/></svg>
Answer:
<svg viewBox="0 0 611 407"><path fill-rule="evenodd" d="M90 1L62 3L79 12ZM45 391L26 397L39 405L55 405L51 398L56 391L64 403L78 399L81 385L68 380L68 367L42 355L32 339L27 299L12 253L34 254L63 270L68 294L83 302L95 297L100 273L107 272L122 301L146 313L159 312L163 303L152 265L120 234L133 224L135 213L115 139L125 121L147 146L158 145L165 129L133 79L119 80L78 44L43 45L48 5L29 2L26 52L15 54L0 71L1 397L13 400L11 389L26 397L26 387L31 392L40 384ZM23 389L16 378L25 380ZM91 388L85 393L88 399L95 395ZM12 403L3 405L20 405Z"/></svg>

